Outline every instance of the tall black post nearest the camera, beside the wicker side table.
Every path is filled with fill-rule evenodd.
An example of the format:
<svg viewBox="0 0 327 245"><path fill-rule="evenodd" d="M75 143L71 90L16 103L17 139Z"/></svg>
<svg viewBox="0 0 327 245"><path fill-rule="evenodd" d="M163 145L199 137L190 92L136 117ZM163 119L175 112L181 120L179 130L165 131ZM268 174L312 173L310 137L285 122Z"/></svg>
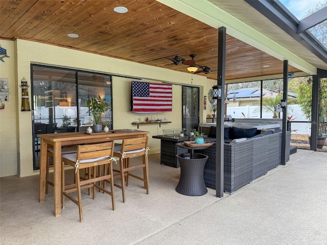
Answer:
<svg viewBox="0 0 327 245"><path fill-rule="evenodd" d="M225 109L225 65L226 65L226 28L218 29L218 75L221 86L221 99L217 100L216 129L216 197L224 196L224 109Z"/></svg>

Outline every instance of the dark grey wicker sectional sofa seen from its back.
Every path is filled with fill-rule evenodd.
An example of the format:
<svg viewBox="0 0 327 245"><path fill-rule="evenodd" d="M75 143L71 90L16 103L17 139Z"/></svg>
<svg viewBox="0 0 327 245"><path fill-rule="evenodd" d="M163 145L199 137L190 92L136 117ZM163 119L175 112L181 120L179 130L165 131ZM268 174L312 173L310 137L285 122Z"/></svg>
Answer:
<svg viewBox="0 0 327 245"><path fill-rule="evenodd" d="M287 132L287 161L290 138L291 132ZM215 141L210 138L206 140ZM224 143L224 191L232 194L277 167L281 164L281 149L282 132L262 134L240 142ZM204 167L205 185L216 188L216 144L197 152L209 157Z"/></svg>

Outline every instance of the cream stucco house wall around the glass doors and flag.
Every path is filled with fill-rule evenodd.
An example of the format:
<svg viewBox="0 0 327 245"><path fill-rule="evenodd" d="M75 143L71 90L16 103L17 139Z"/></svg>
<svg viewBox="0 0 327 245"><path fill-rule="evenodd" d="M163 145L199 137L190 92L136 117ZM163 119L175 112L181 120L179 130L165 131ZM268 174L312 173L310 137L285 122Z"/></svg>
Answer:
<svg viewBox="0 0 327 245"><path fill-rule="evenodd" d="M5 63L1 62L0 64L1 77L10 78L11 92L10 102L6 103L6 109L0 111L1 176L18 174L23 177L38 174L38 171L33 171L32 113L22 112L20 108L20 80L25 77L28 84L31 85L31 63L139 77L143 78L141 81L144 82L162 81L174 84L172 112L159 113L159 115L136 114L129 111L130 85L133 79L113 77L112 100L115 129L136 129L136 126L131 125L131 122L136 121L139 116L151 117L151 115L155 115L155 117L166 117L172 121L172 124L162 124L161 127L158 125L140 126L139 130L151 132L149 134L150 154L160 151L160 141L152 139L152 135L162 134L163 129L181 127L181 86L179 85L200 87L200 108L203 108L203 95L206 95L214 85L213 80L208 80L204 76L194 75L193 84L191 84L191 74L80 52L70 48L21 39L15 41L0 40L0 43L11 56L11 58L5 59ZM16 60L16 64L14 60ZM31 88L29 95L31 98ZM205 111L200 110L200 122L205 120L206 114ZM8 125L8 127L4 129L4 125ZM11 154L7 154L8 152Z"/></svg>

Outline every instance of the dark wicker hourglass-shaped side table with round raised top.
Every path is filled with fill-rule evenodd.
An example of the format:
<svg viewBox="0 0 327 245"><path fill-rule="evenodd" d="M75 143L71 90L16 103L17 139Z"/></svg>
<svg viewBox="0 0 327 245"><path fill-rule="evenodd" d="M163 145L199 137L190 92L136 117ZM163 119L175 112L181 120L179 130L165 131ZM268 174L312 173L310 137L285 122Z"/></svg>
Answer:
<svg viewBox="0 0 327 245"><path fill-rule="evenodd" d="M194 153L194 150L203 150L208 146L191 147L183 142L177 143L180 148L191 152L176 155L180 163L180 178L176 191L183 195L204 195L208 192L203 178L204 165L208 156Z"/></svg>

